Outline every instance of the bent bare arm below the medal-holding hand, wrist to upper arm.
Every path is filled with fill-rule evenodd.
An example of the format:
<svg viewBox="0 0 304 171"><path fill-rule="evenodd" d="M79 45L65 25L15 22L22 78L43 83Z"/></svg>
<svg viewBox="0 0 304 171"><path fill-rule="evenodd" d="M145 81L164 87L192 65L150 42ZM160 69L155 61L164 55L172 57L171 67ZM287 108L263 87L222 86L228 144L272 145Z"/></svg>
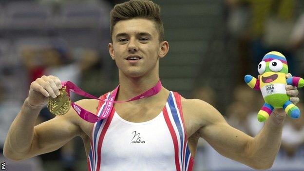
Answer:
<svg viewBox="0 0 304 171"><path fill-rule="evenodd" d="M77 104L83 105L82 101L84 100ZM53 152L81 135L81 129L76 124L78 116L72 108L67 114L34 127L39 110L30 109L26 103L25 101L7 134L3 149L6 158L19 161Z"/></svg>

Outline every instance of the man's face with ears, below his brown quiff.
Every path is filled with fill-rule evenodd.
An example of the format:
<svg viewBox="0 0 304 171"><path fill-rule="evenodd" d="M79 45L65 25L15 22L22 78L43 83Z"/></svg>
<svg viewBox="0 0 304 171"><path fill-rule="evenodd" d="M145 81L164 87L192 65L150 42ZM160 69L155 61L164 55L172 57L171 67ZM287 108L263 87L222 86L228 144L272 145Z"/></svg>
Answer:
<svg viewBox="0 0 304 171"><path fill-rule="evenodd" d="M119 72L132 77L158 72L158 59L164 57L169 49L168 42L159 42L158 31L149 19L118 21L112 40L109 52Z"/></svg>

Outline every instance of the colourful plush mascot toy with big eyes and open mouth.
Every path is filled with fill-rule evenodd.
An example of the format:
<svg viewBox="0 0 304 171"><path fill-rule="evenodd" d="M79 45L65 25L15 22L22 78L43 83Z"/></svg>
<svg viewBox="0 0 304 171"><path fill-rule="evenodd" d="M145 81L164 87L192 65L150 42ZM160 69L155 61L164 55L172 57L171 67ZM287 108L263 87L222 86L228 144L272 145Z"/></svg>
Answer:
<svg viewBox="0 0 304 171"><path fill-rule="evenodd" d="M288 73L287 61L284 55L279 52L269 52L266 54L262 62L258 65L260 80L253 76L246 75L245 82L255 90L261 90L265 104L258 113L258 120L264 122L273 109L283 108L291 118L300 117L300 110L286 95L285 85L293 85L303 87L303 78L292 76L286 79Z"/></svg>

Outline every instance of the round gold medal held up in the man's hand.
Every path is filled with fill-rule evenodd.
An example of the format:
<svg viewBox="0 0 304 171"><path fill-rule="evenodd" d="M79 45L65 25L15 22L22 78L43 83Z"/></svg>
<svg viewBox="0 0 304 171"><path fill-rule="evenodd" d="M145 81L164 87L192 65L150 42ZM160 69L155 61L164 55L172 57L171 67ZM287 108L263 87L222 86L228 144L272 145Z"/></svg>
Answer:
<svg viewBox="0 0 304 171"><path fill-rule="evenodd" d="M66 87L60 89L60 95L58 95L56 98L52 98L51 96L49 97L47 108L52 114L63 115L69 111L71 107L71 101L65 89Z"/></svg>

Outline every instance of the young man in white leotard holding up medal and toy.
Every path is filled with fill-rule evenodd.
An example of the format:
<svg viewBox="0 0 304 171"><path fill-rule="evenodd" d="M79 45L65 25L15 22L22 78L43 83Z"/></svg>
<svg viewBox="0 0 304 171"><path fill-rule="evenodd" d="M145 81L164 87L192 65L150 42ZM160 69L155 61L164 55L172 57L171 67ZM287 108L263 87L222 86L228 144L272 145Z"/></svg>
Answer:
<svg viewBox="0 0 304 171"><path fill-rule="evenodd" d="M159 80L159 58L169 50L163 40L159 6L147 0L116 5L111 11L111 38L109 52L118 67L120 84L115 101L128 100L153 87ZM34 127L48 96L59 95L58 89L61 84L56 76L42 76L31 84L5 142L7 158L18 161L52 152L81 136L89 170L191 171L197 141L202 137L228 158L268 169L279 150L286 115L275 110L253 138L229 126L208 103L185 99L162 87L156 95L115 103L110 116L95 124L81 119L71 108L67 114ZM295 87L286 90L288 95L298 94ZM297 103L299 98L290 100ZM103 108L103 102L95 99L76 103L97 115Z"/></svg>

